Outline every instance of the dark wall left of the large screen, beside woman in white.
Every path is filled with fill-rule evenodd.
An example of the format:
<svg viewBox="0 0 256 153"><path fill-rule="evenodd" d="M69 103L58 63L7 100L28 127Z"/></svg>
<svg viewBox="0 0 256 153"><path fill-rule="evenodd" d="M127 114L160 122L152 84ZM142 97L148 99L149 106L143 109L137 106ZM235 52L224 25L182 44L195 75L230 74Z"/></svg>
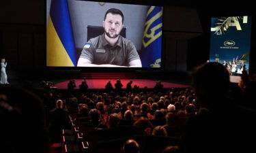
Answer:
<svg viewBox="0 0 256 153"><path fill-rule="evenodd" d="M44 1L2 1L0 31L0 56L8 62L7 71L44 67Z"/></svg>

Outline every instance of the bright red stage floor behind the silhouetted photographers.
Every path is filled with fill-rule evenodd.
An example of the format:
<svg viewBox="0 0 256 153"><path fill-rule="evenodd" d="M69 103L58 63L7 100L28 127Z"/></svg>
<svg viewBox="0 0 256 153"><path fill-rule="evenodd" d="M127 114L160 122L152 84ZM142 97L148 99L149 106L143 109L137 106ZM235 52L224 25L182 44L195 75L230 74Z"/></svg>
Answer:
<svg viewBox="0 0 256 153"><path fill-rule="evenodd" d="M111 83L113 85L113 87L115 88L115 83L116 83L116 79L110 79ZM74 80L75 84L76 84L76 88L79 88L79 85L81 84L81 82L83 81L81 80ZM54 85L54 87L57 87L59 89L67 89L68 88L68 82L70 82L70 80L66 80L63 82L59 82L57 84ZM104 80L104 79L88 79L86 80L89 88L93 89L93 88L105 88L105 85L107 82L109 82L108 80ZM126 88L126 84L130 82L129 79L121 79L121 83L123 84L123 88ZM163 88L188 88L190 85L189 84L177 84L177 83L171 83L171 82L165 82L162 81L163 84ZM147 88L154 88L154 86L156 85L156 81L155 80L144 80L144 79L132 79L132 87L134 85L139 86L139 88L144 88L144 86L147 86Z"/></svg>

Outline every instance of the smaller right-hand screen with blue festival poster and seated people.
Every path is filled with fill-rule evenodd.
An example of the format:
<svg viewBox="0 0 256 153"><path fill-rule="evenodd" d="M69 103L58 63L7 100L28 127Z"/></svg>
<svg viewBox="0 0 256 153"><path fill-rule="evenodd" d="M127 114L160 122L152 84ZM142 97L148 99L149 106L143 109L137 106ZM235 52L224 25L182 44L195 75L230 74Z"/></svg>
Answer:
<svg viewBox="0 0 256 153"><path fill-rule="evenodd" d="M212 18L210 61L223 63L231 75L249 68L251 16Z"/></svg>

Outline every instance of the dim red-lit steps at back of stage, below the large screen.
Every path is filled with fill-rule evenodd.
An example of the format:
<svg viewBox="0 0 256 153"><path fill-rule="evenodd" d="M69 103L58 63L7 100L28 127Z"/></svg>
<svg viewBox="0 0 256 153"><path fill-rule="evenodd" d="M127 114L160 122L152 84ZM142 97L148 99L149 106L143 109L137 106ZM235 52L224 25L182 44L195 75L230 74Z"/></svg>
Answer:
<svg viewBox="0 0 256 153"><path fill-rule="evenodd" d="M81 73L80 78L86 79L136 79L135 73Z"/></svg>

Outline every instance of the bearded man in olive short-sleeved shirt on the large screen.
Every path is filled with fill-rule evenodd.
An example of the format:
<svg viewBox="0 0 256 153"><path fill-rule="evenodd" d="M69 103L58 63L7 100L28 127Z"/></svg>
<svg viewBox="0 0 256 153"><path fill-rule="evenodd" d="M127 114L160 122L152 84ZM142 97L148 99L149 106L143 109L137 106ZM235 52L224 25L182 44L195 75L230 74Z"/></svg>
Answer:
<svg viewBox="0 0 256 153"><path fill-rule="evenodd" d="M132 41L119 33L124 27L124 15L109 9L103 21L104 33L89 39L83 47L78 67L141 67L141 59Z"/></svg>

